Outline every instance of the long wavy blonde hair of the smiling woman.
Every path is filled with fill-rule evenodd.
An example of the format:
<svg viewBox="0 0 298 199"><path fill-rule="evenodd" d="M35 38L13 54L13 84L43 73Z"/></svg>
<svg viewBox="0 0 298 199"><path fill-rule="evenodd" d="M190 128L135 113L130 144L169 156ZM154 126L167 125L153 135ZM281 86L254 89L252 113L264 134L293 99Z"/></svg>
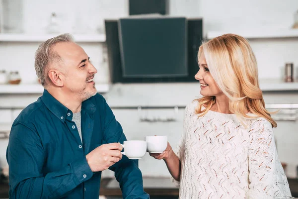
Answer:
<svg viewBox="0 0 298 199"><path fill-rule="evenodd" d="M229 99L229 110L239 118L248 116L247 110L264 117L272 127L277 123L265 109L262 91L259 87L255 55L248 41L235 34L224 34L203 42L199 48L198 60L204 53L209 71L218 87ZM205 115L216 102L215 96L204 96L198 100L196 113ZM203 108L205 106L206 108Z"/></svg>

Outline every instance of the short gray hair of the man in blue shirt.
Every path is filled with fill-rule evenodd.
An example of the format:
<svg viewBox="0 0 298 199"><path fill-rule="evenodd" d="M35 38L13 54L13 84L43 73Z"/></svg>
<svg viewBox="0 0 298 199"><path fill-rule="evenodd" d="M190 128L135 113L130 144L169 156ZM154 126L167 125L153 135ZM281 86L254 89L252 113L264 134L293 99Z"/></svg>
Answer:
<svg viewBox="0 0 298 199"><path fill-rule="evenodd" d="M47 85L47 81L50 80L47 74L49 71L49 63L62 61L62 58L52 50L53 46L60 42L74 42L74 39L71 34L61 34L40 44L35 52L34 67L36 75L40 79L41 85L44 87Z"/></svg>

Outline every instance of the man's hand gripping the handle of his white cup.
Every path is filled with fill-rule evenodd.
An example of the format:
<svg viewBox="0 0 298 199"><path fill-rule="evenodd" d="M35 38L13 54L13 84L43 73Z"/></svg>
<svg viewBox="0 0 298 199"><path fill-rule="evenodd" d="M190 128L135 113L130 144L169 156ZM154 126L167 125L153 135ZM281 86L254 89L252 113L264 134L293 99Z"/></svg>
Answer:
<svg viewBox="0 0 298 199"><path fill-rule="evenodd" d="M122 159L120 143L103 144L86 155L92 172L103 171Z"/></svg>

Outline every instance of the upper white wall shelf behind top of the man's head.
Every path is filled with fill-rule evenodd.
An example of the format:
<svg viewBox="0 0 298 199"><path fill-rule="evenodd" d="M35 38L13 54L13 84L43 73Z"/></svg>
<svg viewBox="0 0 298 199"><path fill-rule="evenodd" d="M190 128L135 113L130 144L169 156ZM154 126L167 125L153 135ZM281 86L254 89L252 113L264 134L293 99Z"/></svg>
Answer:
<svg viewBox="0 0 298 199"><path fill-rule="evenodd" d="M59 34L0 34L0 42L44 42ZM105 34L74 34L75 42L105 42Z"/></svg>

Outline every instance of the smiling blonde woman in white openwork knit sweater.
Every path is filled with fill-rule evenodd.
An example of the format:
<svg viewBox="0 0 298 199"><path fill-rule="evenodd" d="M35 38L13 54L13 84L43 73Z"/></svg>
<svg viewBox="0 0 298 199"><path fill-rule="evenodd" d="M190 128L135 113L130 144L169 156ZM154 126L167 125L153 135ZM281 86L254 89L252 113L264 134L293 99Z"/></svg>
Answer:
<svg viewBox="0 0 298 199"><path fill-rule="evenodd" d="M180 199L272 199L291 196L246 39L224 34L198 53L202 98L187 105L177 155L160 154Z"/></svg>

